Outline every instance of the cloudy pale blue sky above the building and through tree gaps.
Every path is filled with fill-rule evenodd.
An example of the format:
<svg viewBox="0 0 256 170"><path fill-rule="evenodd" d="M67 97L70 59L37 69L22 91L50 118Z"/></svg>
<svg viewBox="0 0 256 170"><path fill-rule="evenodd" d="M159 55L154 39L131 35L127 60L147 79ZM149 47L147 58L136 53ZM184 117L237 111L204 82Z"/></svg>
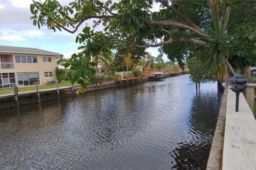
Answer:
<svg viewBox="0 0 256 170"><path fill-rule="evenodd" d="M68 5L71 0L59 2L61 5ZM46 26L38 29L33 25L33 20L29 19L32 16L29 8L31 3L32 0L0 0L0 45L39 48L63 54L65 58L77 53L77 47L81 44L76 44L75 39L82 29L74 34L64 30L54 32ZM159 6L154 5L154 10L158 11ZM88 25L90 23L92 21ZM102 28L98 27L97 30ZM158 48L148 48L146 51L156 57L159 54L157 50ZM166 55L164 60L167 60Z"/></svg>

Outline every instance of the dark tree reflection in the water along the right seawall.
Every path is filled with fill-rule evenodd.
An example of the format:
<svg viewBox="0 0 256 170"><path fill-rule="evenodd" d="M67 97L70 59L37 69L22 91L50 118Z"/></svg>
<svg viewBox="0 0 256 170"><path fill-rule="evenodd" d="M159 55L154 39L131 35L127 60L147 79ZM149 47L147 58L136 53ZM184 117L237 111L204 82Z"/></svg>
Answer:
<svg viewBox="0 0 256 170"><path fill-rule="evenodd" d="M178 143L179 146L169 153L176 162L172 168L206 169L220 101L221 96L214 92L201 92L194 97L188 118L187 139L190 141Z"/></svg>

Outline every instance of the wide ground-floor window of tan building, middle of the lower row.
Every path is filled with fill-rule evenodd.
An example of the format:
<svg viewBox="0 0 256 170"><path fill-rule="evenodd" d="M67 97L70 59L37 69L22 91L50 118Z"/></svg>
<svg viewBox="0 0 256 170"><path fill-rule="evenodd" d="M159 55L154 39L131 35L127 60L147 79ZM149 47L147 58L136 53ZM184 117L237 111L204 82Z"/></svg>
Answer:
<svg viewBox="0 0 256 170"><path fill-rule="evenodd" d="M40 84L38 72L17 73L17 78L21 86L35 85L36 82Z"/></svg>

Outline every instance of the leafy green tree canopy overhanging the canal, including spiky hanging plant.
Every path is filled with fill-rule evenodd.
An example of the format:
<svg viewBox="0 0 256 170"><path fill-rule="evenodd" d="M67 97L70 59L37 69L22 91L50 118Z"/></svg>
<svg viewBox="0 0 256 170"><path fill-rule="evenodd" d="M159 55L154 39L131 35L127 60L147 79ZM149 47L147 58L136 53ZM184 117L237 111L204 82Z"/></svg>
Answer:
<svg viewBox="0 0 256 170"><path fill-rule="evenodd" d="M157 10L156 5L160 6ZM160 52L180 65L202 48L210 73L219 81L227 77L231 66L247 67L255 62L255 25L249 24L256 18L255 1L76 0L62 6L58 1L46 0L33 1L30 10L38 28L47 25L54 31L70 33L83 28L76 42L86 48L75 55L79 57L67 61L71 65L67 77L83 87L98 81L89 68L95 66L91 58L102 53L115 52L109 71L127 54L138 62L148 47L160 47ZM88 27L90 20L94 25ZM235 24L239 24L237 29ZM93 30L98 25L103 26L102 31Z"/></svg>

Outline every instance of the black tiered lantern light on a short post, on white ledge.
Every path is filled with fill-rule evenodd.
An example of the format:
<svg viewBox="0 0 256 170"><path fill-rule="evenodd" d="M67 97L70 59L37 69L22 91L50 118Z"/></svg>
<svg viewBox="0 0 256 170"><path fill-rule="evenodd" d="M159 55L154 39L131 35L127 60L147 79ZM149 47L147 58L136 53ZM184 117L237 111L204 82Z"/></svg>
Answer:
<svg viewBox="0 0 256 170"><path fill-rule="evenodd" d="M235 74L229 80L231 80L229 86L232 86L230 89L236 93L236 112L238 112L239 94L244 91L248 79L241 74Z"/></svg>

